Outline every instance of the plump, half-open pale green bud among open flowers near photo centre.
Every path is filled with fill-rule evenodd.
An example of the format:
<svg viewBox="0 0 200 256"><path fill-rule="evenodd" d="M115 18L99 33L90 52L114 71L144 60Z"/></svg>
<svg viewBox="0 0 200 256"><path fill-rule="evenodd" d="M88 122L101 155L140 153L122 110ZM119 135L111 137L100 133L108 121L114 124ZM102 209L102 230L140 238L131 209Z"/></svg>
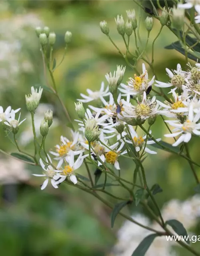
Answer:
<svg viewBox="0 0 200 256"><path fill-rule="evenodd" d="M85 137L88 140L88 142L94 142L95 140L98 140L100 136L100 131L98 130L98 125L95 119L88 119L86 121L85 126Z"/></svg>

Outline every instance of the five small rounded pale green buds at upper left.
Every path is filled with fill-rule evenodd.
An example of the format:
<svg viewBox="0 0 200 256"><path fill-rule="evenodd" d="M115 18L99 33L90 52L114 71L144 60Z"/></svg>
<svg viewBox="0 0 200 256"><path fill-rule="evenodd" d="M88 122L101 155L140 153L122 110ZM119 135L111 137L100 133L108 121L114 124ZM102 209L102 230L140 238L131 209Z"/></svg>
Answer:
<svg viewBox="0 0 200 256"><path fill-rule="evenodd" d="M42 47L45 47L48 43L50 46L53 46L56 42L56 34L54 32L50 32L50 28L45 26L44 28L37 27L36 35L40 40L40 44ZM72 33L67 31L64 36L64 41L66 44L71 42Z"/></svg>

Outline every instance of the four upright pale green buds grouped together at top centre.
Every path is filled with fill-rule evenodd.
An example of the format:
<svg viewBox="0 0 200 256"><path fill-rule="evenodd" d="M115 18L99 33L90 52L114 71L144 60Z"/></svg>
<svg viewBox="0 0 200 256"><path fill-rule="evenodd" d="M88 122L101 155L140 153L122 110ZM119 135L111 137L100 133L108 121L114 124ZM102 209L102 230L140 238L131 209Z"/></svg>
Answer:
<svg viewBox="0 0 200 256"><path fill-rule="evenodd" d="M136 20L136 14L135 10L128 10L127 13L127 21L124 21L123 16L118 15L117 18L115 18L115 22L117 25L117 31L121 36L124 36L125 33L127 36L131 36L133 30L136 30L137 28L137 20ZM101 21L100 22L100 29L101 31L108 35L110 32L110 29L108 28L107 22Z"/></svg>

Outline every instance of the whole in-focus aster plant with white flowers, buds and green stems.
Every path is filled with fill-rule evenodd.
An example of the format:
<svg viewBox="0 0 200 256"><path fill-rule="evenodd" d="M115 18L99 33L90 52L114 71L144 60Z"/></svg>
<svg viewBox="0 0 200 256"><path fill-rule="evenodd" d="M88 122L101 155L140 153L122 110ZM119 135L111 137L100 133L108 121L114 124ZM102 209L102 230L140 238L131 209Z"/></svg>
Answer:
<svg viewBox="0 0 200 256"><path fill-rule="evenodd" d="M160 210L155 199L155 194L162 192L158 184L150 187L146 180L143 163L152 154L156 158L156 149L160 148L189 163L191 175L194 176L195 190L200 190L200 178L196 168L200 164L192 160L190 156L190 140L200 136L200 1L199 0L174 0L174 7L169 8L165 0L165 6L161 6L159 0L156 9L150 0L152 10L142 6L141 1L134 0L140 11L148 12L148 17L143 21L146 27L146 43L140 41L141 12L136 15L135 10L126 11L126 19L120 14L115 18L116 30L122 37L126 51L123 52L110 36L108 23L100 22L100 29L114 45L119 54L124 58L124 65L116 65L116 70L105 74L104 81L96 91L88 88L80 94L75 102L78 119L72 122L68 109L58 93L54 70L62 64L66 50L72 40L72 33L67 31L64 36L65 52L60 63L52 60L52 51L56 42L56 34L50 32L48 27L36 28L36 35L40 42L40 51L44 64L46 87L31 87L31 94L26 95L26 107L32 120L34 138L34 152L28 154L18 145L17 133L23 129L23 121L20 122L20 114L12 110L11 106L0 106L0 122L6 134L12 133L14 143L19 153L10 156L18 158L33 166L41 166L41 174L34 176L43 177L41 190L49 188L59 189L59 186L76 186L86 193L92 194L101 200L111 212L111 226L114 226L118 214L128 221L148 230L148 236L138 244L132 252L133 256L145 255L151 243L157 237L174 235L188 236L183 224L176 219L168 219ZM141 22L138 22L138 19ZM160 30L154 38L151 46L151 56L146 53L154 20L160 21ZM166 49L175 49L185 56L185 67L177 63L176 70L165 67L168 75L167 81L159 79L154 70L154 44L164 26L177 37L177 41ZM134 40L135 51L130 50L130 40ZM138 64L138 61L142 60ZM133 75L124 82L126 66L133 70ZM151 74L150 75L150 72ZM124 82L124 83L123 83ZM168 93L164 92L168 88ZM41 137L36 136L35 110L40 104L42 92L50 90L58 98L66 122L71 128L71 136L60 135L60 140L52 149L46 150L45 141L53 122L53 112L44 113L44 120L40 125ZM96 102L100 102L97 106ZM89 105L86 105L88 104ZM86 105L86 106L85 106ZM4 109L5 112L4 112ZM18 117L16 117L18 116ZM157 119L162 118L169 133L163 134L174 142L167 143L151 132ZM75 128L76 127L76 128ZM0 150L4 154L8 154ZM153 156L155 155L155 156ZM132 180L121 177L124 172L121 159L125 158L134 165ZM88 177L81 174L82 165L86 167ZM95 166L93 173L91 166ZM103 184L98 184L99 177L104 177ZM108 183L112 180L112 183ZM121 186L126 190L126 196L117 196L107 191L107 186ZM113 205L102 197L107 194L116 204ZM128 204L140 205L150 214L154 226L136 220L134 216L128 216L122 212L122 208ZM193 255L200 256L189 244L189 240L179 239L178 243Z"/></svg>

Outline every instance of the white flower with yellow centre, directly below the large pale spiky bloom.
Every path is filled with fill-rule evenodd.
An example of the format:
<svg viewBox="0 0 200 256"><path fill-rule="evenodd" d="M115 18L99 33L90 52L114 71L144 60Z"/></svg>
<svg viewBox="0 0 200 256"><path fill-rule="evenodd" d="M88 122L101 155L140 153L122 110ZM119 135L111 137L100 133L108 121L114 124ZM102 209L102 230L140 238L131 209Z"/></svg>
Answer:
<svg viewBox="0 0 200 256"><path fill-rule="evenodd" d="M146 141L146 135L145 136L138 136L137 132L134 130L133 126L129 125L128 126L129 129L130 129L130 134L131 134L131 137L133 139L133 142L134 142L134 145L135 148L136 148L136 151L137 152L140 152L140 150L143 150L149 154L157 154L156 151L153 151L153 150L150 150L149 148L145 147L145 141ZM151 134L151 131L149 132ZM156 139L156 141L160 141L161 138L159 139ZM132 140L126 140L126 142L128 142L129 144L132 144ZM154 140L147 140L146 144L147 145L151 145L151 144L154 144L156 142L154 142Z"/></svg>

